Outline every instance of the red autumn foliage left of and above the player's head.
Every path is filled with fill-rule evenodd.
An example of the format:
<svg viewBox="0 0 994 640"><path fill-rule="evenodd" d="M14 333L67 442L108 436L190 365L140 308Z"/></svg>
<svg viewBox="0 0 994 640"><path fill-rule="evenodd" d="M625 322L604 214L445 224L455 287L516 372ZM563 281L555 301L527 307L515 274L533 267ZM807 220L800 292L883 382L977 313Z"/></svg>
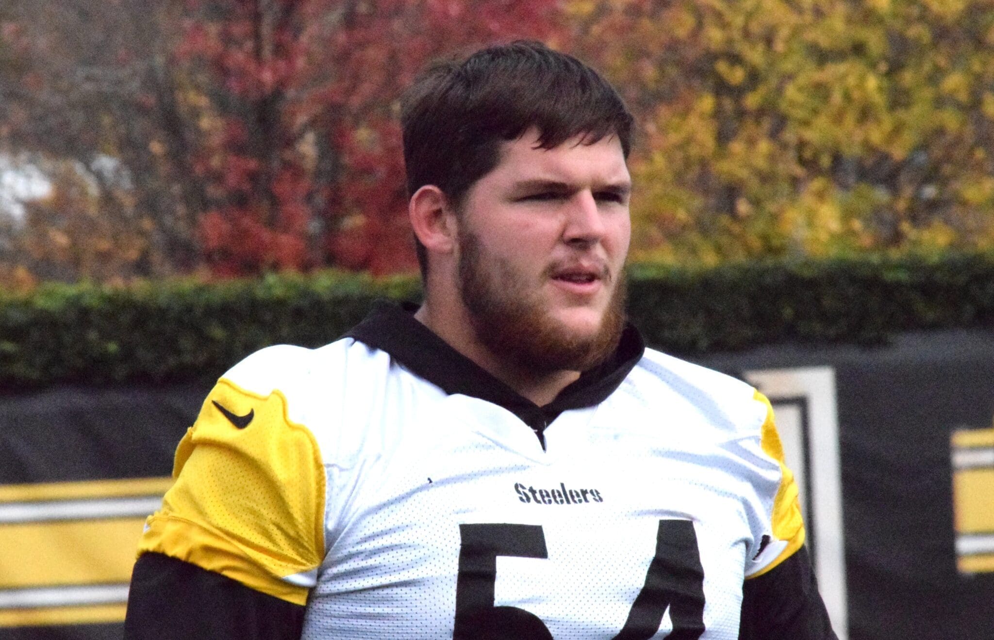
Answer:
<svg viewBox="0 0 994 640"><path fill-rule="evenodd" d="M565 38L560 0L188 0L176 60L203 71L193 165L219 274L413 269L396 102L428 61Z"/></svg>

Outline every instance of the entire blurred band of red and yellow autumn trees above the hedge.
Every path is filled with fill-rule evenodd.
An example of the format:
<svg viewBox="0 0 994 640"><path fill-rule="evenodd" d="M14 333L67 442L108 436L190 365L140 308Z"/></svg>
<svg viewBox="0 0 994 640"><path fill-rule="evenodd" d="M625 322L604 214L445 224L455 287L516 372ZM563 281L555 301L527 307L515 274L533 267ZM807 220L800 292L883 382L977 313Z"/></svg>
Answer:
<svg viewBox="0 0 994 640"><path fill-rule="evenodd" d="M994 242L985 0L5 0L0 282L414 265L397 98L516 38L636 114L633 257Z"/></svg>

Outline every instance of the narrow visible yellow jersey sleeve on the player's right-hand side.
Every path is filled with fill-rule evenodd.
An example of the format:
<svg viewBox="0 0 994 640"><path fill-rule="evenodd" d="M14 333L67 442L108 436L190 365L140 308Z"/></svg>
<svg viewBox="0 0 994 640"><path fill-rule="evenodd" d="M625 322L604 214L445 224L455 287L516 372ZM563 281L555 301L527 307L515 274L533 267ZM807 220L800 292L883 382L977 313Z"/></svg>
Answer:
<svg viewBox="0 0 994 640"><path fill-rule="evenodd" d="M762 576L792 556L804 544L805 536L797 483L794 482L794 474L783 459L783 447L776 432L773 407L758 391L755 392L754 398L766 407L766 419L760 428L760 446L766 455L780 465L780 484L773 497L769 523L773 540L768 545L770 551L774 553L776 550L779 551L768 562L765 559L760 560L758 569L746 575L746 578Z"/></svg>

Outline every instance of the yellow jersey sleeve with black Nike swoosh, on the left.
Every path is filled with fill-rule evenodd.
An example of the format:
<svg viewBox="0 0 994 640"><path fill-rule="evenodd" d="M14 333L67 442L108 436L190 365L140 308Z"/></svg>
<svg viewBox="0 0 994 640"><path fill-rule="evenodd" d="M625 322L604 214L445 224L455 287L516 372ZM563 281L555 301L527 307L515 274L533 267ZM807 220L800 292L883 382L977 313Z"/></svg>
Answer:
<svg viewBox="0 0 994 640"><path fill-rule="evenodd" d="M139 555L164 554L306 603L324 558L325 474L283 393L222 378L176 449L173 477Z"/></svg>

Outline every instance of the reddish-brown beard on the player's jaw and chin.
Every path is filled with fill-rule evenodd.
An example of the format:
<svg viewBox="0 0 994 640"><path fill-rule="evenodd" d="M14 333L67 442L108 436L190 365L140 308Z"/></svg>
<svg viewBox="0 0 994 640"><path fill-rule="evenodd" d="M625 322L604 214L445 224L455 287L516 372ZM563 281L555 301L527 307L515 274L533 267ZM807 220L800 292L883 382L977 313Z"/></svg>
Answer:
<svg viewBox="0 0 994 640"><path fill-rule="evenodd" d="M508 261L487 255L472 232L459 236L458 270L459 293L476 338L516 367L533 374L585 371L617 348L625 322L623 274L613 275L617 280L600 326L584 334L549 315L542 282L528 283ZM551 277L549 271L544 275Z"/></svg>

